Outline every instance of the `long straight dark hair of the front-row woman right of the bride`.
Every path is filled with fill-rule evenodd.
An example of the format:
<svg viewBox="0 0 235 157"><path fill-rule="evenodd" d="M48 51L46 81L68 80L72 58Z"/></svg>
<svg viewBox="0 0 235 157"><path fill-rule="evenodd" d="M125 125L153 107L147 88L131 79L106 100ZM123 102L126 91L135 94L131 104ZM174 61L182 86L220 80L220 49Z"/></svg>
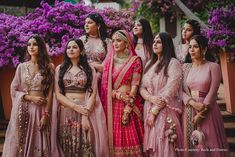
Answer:
<svg viewBox="0 0 235 157"><path fill-rule="evenodd" d="M161 32L157 36L159 36L159 38L162 41L163 50L162 50L162 59L160 60L160 63L157 65L155 72L158 74L162 70L162 68L164 68L164 75L168 76L167 68L171 61L171 58L176 58L174 44L169 33ZM150 67L152 67L153 64L156 63L157 60L158 60L157 54L153 53L151 61L145 68L144 73L146 73L150 69Z"/></svg>

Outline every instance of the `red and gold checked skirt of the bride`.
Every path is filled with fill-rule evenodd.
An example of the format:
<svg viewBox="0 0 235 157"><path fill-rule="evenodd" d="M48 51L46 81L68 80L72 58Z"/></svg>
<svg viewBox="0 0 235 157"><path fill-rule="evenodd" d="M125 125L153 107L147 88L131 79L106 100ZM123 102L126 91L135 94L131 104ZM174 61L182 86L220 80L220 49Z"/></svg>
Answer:
<svg viewBox="0 0 235 157"><path fill-rule="evenodd" d="M136 107L142 111L141 99L135 101ZM130 121L122 124L125 104L113 99L113 145L115 157L142 157L144 128L142 119L135 112L130 113ZM142 112L141 112L142 113Z"/></svg>

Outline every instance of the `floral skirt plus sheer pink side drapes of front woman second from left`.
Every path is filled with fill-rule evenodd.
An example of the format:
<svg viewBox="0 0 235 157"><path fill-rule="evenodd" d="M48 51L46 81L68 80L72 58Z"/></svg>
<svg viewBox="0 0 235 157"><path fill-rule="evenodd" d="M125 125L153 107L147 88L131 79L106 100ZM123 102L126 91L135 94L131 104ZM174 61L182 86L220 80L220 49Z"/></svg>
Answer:
<svg viewBox="0 0 235 157"><path fill-rule="evenodd" d="M85 101L73 100L77 105ZM108 134L104 110L99 97L96 97L93 110L89 114L90 130L84 131L81 126L82 115L53 103L52 112L52 151L55 157L108 157ZM56 114L57 113L57 114Z"/></svg>

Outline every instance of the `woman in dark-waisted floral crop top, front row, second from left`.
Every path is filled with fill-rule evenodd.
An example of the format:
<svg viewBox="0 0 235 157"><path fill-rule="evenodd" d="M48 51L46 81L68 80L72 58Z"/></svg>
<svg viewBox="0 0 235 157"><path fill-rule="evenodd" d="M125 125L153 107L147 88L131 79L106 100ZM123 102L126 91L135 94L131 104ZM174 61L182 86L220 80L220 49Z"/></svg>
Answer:
<svg viewBox="0 0 235 157"><path fill-rule="evenodd" d="M70 40L56 68L52 153L56 157L106 157L105 114L97 94L97 75L80 39Z"/></svg>

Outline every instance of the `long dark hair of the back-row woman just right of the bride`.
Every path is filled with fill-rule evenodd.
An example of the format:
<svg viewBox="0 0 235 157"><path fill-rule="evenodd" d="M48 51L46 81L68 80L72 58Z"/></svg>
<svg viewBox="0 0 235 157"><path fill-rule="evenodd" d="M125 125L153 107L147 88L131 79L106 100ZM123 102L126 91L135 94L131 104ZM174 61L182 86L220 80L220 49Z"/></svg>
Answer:
<svg viewBox="0 0 235 157"><path fill-rule="evenodd" d="M153 54L153 49L152 49L153 32L152 32L150 23L148 20L146 20L144 18L140 18L137 21L140 22L140 24L142 25L142 28L143 28L143 34L142 34L143 44L144 44L147 52L149 53L149 56L152 56L152 54ZM134 48L135 48L137 45L138 37L134 34L133 34L133 37L134 37Z"/></svg>

